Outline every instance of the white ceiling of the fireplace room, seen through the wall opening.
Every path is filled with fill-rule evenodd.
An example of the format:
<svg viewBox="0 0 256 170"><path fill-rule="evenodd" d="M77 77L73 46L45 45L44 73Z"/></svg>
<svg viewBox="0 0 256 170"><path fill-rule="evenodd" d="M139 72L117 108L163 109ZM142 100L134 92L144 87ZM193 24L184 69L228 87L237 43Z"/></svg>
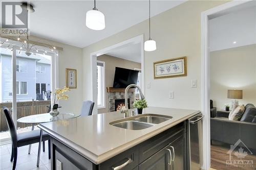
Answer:
<svg viewBox="0 0 256 170"><path fill-rule="evenodd" d="M134 61L141 63L140 53L141 53L141 44L140 43L129 43L121 47L115 48L110 52L106 53L107 55L122 58L125 60Z"/></svg>

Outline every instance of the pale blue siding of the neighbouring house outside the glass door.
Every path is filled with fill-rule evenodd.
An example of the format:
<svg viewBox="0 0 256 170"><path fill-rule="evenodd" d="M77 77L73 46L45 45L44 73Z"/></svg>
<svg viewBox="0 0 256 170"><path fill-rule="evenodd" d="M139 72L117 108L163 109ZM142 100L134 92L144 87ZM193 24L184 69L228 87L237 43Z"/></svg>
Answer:
<svg viewBox="0 0 256 170"><path fill-rule="evenodd" d="M27 62L27 72L16 72L17 82L27 82L27 94L17 94L17 101L36 100L36 83L46 83L46 90L51 90L51 65L37 63L35 59L17 57L17 61ZM0 69L1 93L0 102L12 101L12 64L11 56L1 55ZM36 65L45 66L45 73L36 73Z"/></svg>

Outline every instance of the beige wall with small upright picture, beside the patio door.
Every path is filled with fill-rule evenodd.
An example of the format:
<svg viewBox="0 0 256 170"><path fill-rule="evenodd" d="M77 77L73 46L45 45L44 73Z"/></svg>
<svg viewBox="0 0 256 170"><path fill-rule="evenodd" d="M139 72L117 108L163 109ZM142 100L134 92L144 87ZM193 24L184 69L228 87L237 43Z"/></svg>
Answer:
<svg viewBox="0 0 256 170"><path fill-rule="evenodd" d="M31 40L39 40L42 38L30 37ZM49 40L48 40L49 41ZM72 111L76 114L80 114L82 106L82 48L75 47L59 43L56 41L49 41L55 46L63 48L63 51L59 51L59 87L66 86L66 68L73 68L77 70L77 88L71 89L69 99L67 101L61 100L59 105L63 111Z"/></svg>

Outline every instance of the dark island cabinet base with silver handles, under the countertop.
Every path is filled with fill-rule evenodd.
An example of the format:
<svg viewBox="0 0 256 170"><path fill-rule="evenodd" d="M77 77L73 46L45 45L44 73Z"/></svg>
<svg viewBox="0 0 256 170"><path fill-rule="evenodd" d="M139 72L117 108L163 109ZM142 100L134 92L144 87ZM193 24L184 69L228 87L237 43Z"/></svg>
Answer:
<svg viewBox="0 0 256 170"><path fill-rule="evenodd" d="M169 128L100 164L51 138L52 169L187 169L186 122Z"/></svg>

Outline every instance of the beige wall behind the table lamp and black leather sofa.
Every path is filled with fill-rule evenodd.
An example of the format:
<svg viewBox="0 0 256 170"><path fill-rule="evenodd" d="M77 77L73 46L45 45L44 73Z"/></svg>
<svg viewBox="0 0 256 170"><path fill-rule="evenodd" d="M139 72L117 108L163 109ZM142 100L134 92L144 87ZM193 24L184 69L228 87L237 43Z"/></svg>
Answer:
<svg viewBox="0 0 256 170"><path fill-rule="evenodd" d="M240 104L256 104L256 44L210 53L210 99L218 110L231 108L228 89L243 90Z"/></svg>

